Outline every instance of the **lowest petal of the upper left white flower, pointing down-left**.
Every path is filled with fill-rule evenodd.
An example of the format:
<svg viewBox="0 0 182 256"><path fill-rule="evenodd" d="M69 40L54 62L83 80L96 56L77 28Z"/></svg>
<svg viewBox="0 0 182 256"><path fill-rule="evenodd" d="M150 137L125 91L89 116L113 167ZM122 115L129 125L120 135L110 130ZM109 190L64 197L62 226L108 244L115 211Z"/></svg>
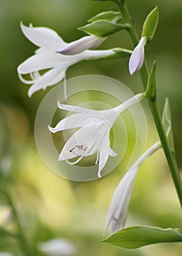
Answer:
<svg viewBox="0 0 182 256"><path fill-rule="evenodd" d="M33 86L30 87L28 92L29 97L31 97L31 95L36 91L46 89L48 86L53 86L56 83L59 83L64 78L65 72L65 69L60 70L59 67L50 69L48 72L42 75L41 78L39 78L39 80L37 80Z"/></svg>

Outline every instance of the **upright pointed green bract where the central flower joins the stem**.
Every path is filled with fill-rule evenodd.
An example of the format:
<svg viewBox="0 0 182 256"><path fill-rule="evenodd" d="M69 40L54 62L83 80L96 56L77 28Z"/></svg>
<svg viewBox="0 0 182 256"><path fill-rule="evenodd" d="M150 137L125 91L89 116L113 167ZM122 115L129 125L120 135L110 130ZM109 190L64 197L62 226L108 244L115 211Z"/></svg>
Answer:
<svg viewBox="0 0 182 256"><path fill-rule="evenodd" d="M153 61L151 73L148 75L145 97L150 97L151 99L156 100L156 61Z"/></svg>

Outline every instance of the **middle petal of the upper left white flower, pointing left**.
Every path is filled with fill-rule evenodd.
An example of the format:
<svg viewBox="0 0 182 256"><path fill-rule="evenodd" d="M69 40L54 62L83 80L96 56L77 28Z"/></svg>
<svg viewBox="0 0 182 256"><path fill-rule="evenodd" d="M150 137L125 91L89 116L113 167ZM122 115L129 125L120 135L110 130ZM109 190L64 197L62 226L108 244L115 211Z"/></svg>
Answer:
<svg viewBox="0 0 182 256"><path fill-rule="evenodd" d="M31 56L18 66L18 73L25 75L37 70L50 69L60 67L65 69L69 67L70 58L61 56L59 53L43 52Z"/></svg>

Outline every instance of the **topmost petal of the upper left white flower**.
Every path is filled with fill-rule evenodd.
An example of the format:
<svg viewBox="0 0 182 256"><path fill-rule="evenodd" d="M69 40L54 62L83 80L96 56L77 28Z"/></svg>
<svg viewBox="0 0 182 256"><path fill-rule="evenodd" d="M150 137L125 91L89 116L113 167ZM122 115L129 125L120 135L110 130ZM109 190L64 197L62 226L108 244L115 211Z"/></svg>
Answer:
<svg viewBox="0 0 182 256"><path fill-rule="evenodd" d="M52 50L58 50L61 47L67 45L61 37L58 36L56 31L53 29L48 29L44 27L33 27L33 26L24 26L23 23L20 23L21 30L23 34L41 48L48 48Z"/></svg>

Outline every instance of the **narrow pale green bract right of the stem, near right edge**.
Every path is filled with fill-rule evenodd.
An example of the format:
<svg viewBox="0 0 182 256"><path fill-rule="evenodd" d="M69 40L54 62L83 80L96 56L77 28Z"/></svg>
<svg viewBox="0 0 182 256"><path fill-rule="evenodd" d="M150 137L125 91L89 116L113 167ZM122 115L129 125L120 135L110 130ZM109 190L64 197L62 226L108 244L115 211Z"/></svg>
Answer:
<svg viewBox="0 0 182 256"><path fill-rule="evenodd" d="M172 121L171 121L171 111L170 111L170 103L169 99L165 98L164 109L162 113L162 124L164 127L164 132L167 136L167 140L170 146L170 151L175 153L174 139L172 134Z"/></svg>

